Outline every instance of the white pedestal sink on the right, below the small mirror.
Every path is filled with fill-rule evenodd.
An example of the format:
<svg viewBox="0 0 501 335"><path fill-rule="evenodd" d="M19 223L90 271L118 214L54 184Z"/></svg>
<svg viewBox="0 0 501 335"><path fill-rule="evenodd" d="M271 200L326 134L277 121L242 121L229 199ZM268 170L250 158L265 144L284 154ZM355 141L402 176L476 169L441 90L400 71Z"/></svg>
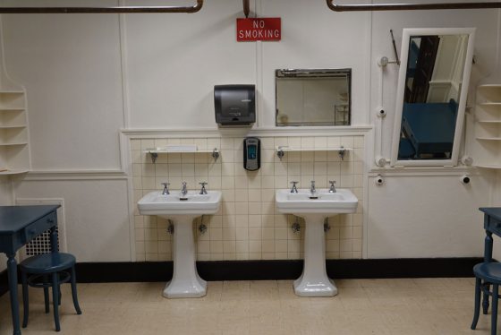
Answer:
<svg viewBox="0 0 501 335"><path fill-rule="evenodd" d="M294 292L298 296L335 296L337 288L327 277L326 239L324 220L339 213L353 213L358 199L347 189L329 193L327 189L317 190L312 196L310 190L300 189L276 191L276 208L284 214L304 218L304 267L301 277L294 280Z"/></svg>

